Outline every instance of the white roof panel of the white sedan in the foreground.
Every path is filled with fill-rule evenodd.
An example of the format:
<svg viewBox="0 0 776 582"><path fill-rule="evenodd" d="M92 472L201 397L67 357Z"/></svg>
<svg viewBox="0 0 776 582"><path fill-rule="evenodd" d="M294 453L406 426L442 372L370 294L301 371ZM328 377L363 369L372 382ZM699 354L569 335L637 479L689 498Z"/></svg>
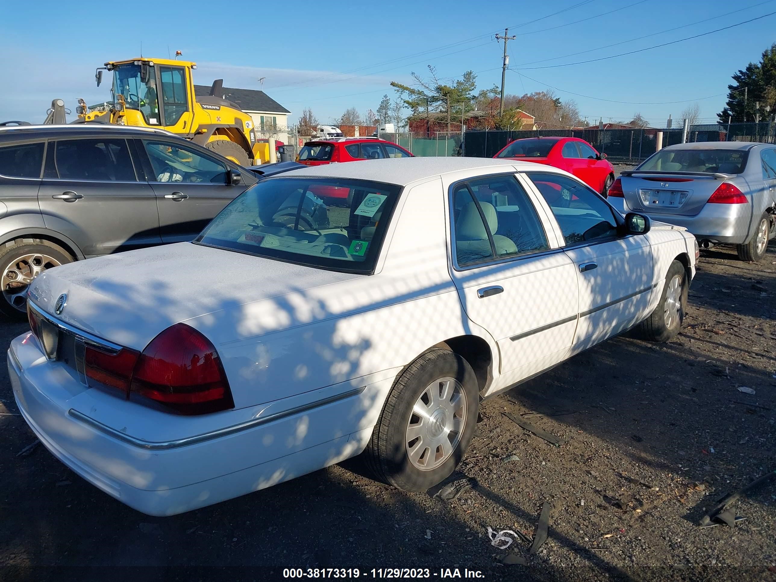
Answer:
<svg viewBox="0 0 776 582"><path fill-rule="evenodd" d="M307 168L285 172L281 178L355 178L372 180L386 184L407 185L425 178L449 174L461 170L487 170L504 168L504 171L536 170L530 161L502 160L494 158L388 158L383 160L364 160L308 166ZM554 171L555 168L543 166L542 171ZM563 173L558 171L558 173Z"/></svg>

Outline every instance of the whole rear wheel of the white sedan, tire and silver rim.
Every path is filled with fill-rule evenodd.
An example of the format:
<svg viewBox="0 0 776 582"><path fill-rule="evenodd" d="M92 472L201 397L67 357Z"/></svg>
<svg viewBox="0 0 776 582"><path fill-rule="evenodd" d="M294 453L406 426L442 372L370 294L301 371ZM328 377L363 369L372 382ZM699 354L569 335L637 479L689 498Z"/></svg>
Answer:
<svg viewBox="0 0 776 582"><path fill-rule="evenodd" d="M425 491L456 469L474 433L480 394L460 355L435 348L401 373L365 450L377 479Z"/></svg>

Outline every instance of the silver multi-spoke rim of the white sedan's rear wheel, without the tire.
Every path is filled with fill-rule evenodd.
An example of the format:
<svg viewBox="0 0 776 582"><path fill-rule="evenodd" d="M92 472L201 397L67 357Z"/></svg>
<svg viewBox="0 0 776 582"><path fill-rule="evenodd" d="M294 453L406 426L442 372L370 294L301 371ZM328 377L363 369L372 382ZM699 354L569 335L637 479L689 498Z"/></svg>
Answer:
<svg viewBox="0 0 776 582"><path fill-rule="evenodd" d="M407 456L423 471L450 458L466 426L466 393L455 378L435 380L421 393L407 423Z"/></svg>

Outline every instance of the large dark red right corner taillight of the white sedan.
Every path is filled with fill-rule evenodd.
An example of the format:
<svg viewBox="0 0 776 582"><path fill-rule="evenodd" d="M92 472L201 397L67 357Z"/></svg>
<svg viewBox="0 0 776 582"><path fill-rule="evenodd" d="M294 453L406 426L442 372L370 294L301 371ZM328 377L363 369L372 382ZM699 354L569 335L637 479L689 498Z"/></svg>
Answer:
<svg viewBox="0 0 776 582"><path fill-rule="evenodd" d="M234 407L216 348L186 324L168 327L146 346L132 374L131 394L167 404L182 414Z"/></svg>

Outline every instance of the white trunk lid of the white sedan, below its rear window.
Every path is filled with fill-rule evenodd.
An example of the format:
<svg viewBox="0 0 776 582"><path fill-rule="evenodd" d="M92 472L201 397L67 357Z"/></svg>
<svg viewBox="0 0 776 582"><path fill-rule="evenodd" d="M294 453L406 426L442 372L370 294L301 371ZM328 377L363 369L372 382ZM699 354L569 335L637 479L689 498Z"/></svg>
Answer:
<svg viewBox="0 0 776 582"><path fill-rule="evenodd" d="M30 298L52 317L142 351L192 317L362 276L178 243L51 268ZM62 293L67 303L55 315Z"/></svg>

